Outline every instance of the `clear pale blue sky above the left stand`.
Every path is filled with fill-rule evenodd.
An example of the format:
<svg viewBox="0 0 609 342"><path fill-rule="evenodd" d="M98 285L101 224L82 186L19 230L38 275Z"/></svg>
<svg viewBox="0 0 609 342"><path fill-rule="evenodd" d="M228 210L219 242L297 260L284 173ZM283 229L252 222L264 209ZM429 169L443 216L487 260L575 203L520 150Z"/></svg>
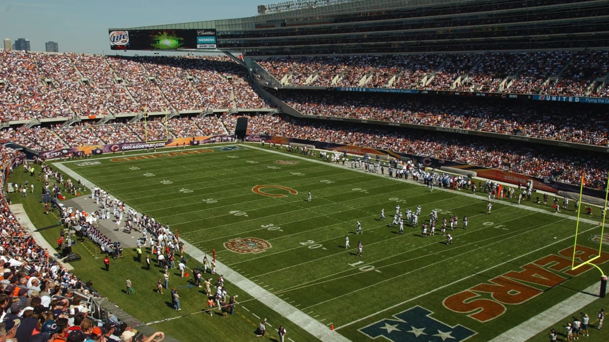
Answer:
<svg viewBox="0 0 609 342"><path fill-rule="evenodd" d="M275 2L280 1L0 0L0 40L29 39L32 51L56 41L60 52L109 54L110 27L243 18Z"/></svg>

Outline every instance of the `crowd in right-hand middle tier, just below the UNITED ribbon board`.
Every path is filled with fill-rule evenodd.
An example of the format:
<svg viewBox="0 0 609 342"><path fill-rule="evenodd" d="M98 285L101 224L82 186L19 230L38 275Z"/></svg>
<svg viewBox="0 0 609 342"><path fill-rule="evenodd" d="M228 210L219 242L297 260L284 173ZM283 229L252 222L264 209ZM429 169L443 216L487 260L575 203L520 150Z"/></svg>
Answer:
<svg viewBox="0 0 609 342"><path fill-rule="evenodd" d="M556 111L517 103L424 101L420 97L333 92L275 92L295 110L306 115L352 117L355 119L460 128L531 138L607 146L609 126L602 111L580 108L573 116L560 106Z"/></svg>

